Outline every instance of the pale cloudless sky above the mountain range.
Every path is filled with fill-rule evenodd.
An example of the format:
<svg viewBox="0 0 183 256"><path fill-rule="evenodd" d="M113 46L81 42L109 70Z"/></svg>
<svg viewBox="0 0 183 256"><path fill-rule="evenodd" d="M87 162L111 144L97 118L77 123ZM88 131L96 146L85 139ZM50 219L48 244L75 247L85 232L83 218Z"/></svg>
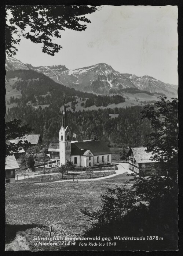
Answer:
<svg viewBox="0 0 183 256"><path fill-rule="evenodd" d="M85 31L68 29L55 39L63 49L54 57L27 39L14 57L33 66L61 64L69 69L107 63L121 73L178 84L177 16L176 6L104 6L87 15L91 24Z"/></svg>

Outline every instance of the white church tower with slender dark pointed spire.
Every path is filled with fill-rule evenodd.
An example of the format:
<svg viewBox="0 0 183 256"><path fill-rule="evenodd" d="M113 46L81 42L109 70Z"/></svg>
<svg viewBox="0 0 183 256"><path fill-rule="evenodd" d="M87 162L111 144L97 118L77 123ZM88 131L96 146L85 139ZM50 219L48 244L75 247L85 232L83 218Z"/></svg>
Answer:
<svg viewBox="0 0 183 256"><path fill-rule="evenodd" d="M71 131L68 127L65 100L63 106L62 126L59 131L59 152L61 166L61 164L66 164L67 160L70 160L71 154Z"/></svg>

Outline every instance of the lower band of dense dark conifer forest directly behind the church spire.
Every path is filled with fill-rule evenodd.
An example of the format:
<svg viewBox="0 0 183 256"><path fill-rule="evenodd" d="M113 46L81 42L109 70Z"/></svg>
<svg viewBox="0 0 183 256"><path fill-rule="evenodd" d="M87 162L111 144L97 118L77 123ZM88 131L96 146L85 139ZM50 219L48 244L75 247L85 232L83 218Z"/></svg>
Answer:
<svg viewBox="0 0 183 256"><path fill-rule="evenodd" d="M69 127L74 140L105 139L109 144L144 144L146 134L150 129L149 121L141 120L142 106L127 107L126 109L99 109L83 112L67 111ZM110 118L109 114L119 114ZM32 106L13 107L8 110L6 120L18 118L34 129L34 134L41 134L44 141L58 139L58 131L62 123L62 113L59 107L41 106L35 110Z"/></svg>

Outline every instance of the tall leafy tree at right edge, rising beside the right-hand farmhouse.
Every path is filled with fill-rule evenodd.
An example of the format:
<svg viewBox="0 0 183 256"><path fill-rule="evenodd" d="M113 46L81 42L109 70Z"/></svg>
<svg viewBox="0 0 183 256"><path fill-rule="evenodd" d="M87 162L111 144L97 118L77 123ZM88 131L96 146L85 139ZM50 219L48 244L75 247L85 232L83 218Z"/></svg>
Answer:
<svg viewBox="0 0 183 256"><path fill-rule="evenodd" d="M142 118L150 120L153 132L148 134L147 151L153 152L151 159L159 162L161 170L176 179L178 154L178 102L159 97L154 106L146 106Z"/></svg>

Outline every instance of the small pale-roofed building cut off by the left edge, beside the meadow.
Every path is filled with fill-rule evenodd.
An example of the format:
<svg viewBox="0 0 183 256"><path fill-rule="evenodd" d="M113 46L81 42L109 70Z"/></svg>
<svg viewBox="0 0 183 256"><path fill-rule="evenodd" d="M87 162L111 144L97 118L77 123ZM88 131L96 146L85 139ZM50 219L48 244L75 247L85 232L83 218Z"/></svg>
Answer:
<svg viewBox="0 0 183 256"><path fill-rule="evenodd" d="M14 154L12 156L6 157L6 164L5 164L5 182L6 183L13 183L15 182L15 171L19 169L19 165L17 160L15 159Z"/></svg>

